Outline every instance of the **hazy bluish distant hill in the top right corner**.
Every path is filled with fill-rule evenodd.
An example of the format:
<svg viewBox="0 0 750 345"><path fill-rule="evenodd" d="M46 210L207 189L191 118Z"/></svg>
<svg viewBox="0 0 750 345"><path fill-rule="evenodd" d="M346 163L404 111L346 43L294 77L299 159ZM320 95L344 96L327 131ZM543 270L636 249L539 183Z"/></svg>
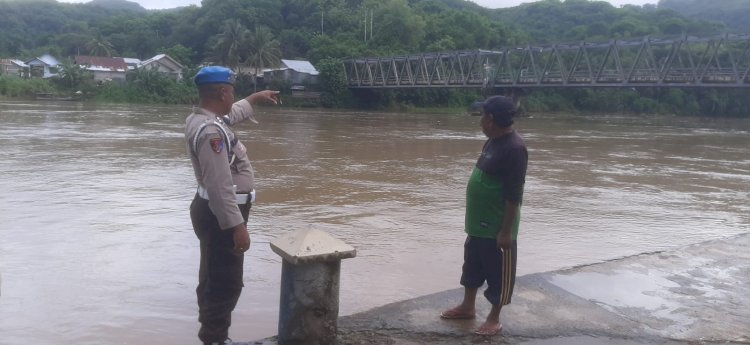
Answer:
<svg viewBox="0 0 750 345"><path fill-rule="evenodd" d="M750 0L660 0L658 6L690 19L724 23L732 31L750 32Z"/></svg>

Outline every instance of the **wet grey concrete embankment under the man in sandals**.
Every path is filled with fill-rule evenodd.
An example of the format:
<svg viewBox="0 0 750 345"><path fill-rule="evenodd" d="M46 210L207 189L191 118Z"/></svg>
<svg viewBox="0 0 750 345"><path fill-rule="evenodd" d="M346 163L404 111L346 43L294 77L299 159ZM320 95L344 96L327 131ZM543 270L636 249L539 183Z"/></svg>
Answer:
<svg viewBox="0 0 750 345"><path fill-rule="evenodd" d="M474 320L439 317L462 295L341 317L339 344L750 344L750 234L519 277L493 337L472 333L489 311L481 297Z"/></svg>

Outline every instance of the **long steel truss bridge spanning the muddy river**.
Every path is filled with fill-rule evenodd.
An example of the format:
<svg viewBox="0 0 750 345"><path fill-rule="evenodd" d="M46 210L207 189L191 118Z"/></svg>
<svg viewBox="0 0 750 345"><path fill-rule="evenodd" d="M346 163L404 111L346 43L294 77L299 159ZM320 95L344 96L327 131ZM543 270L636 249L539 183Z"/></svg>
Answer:
<svg viewBox="0 0 750 345"><path fill-rule="evenodd" d="M349 88L750 88L750 35L580 42L344 61Z"/></svg>

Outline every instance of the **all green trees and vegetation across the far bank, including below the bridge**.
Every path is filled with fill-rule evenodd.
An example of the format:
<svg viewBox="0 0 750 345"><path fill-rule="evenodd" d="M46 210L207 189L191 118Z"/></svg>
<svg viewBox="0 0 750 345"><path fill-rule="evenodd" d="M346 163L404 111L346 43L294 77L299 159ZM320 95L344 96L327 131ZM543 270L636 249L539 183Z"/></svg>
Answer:
<svg viewBox="0 0 750 345"><path fill-rule="evenodd" d="M464 0L203 0L202 6L145 10L124 0L64 4L0 0L0 57L25 61L44 53L65 60L53 80L0 76L0 95L54 92L106 102L191 103L189 77L205 63L259 71L279 58L310 60L320 71L316 102L326 107L414 109L465 107L479 91L381 90L352 92L341 60L434 51L492 49L550 42L639 39L646 35L710 35L750 30L743 0L661 0L614 7L603 1L542 0L491 10ZM732 13L719 16L717 13ZM724 20L724 21L722 21ZM144 59L167 53L188 66L182 81L133 71L124 83L94 82L70 62L75 55ZM237 91L258 87L240 78ZM313 86L316 87L316 86ZM740 91L576 89L525 95L527 111L672 113L750 116ZM291 101L290 103L294 103Z"/></svg>

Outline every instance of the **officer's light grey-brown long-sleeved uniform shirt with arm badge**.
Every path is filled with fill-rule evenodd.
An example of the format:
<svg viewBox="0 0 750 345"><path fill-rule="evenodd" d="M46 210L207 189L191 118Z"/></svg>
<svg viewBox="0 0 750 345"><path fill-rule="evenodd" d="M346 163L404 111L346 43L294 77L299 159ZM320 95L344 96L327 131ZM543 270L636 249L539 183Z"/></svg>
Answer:
<svg viewBox="0 0 750 345"><path fill-rule="evenodd" d="M247 149L229 126L255 121L252 105L242 99L224 117L199 107L185 120L185 141L199 188L208 193L208 206L222 229L244 222L236 193L253 190L255 178ZM236 190L235 187L236 186Z"/></svg>

